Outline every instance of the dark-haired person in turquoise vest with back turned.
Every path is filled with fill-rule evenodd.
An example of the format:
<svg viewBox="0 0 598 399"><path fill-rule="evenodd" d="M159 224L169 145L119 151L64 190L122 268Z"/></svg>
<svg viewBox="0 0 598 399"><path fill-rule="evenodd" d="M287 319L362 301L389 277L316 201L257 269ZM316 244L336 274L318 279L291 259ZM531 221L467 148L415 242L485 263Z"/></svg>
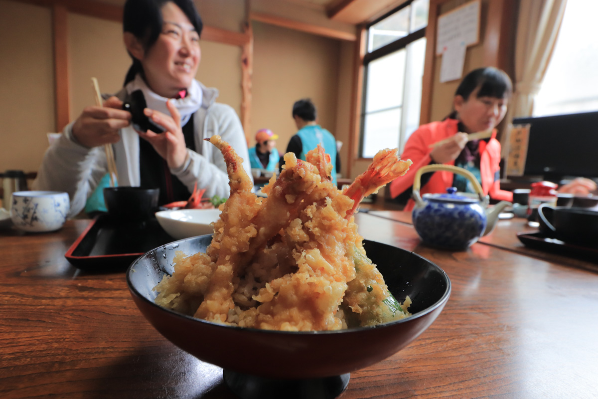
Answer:
<svg viewBox="0 0 598 399"><path fill-rule="evenodd" d="M306 160L306 154L321 144L324 151L330 155L332 162L332 182L337 183L336 174L340 170L340 157L337 152L336 139L332 133L320 126L316 117L316 106L310 99L301 99L293 104L293 119L298 132L289 140L286 147L287 153L294 153L297 159ZM282 168L284 161L280 160Z"/></svg>

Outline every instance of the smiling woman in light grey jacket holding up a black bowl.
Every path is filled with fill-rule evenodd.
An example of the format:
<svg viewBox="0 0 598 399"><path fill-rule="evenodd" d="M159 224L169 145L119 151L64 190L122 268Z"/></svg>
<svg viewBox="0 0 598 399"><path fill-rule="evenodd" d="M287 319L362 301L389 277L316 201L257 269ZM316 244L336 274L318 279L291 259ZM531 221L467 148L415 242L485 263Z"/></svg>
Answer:
<svg viewBox="0 0 598 399"><path fill-rule="evenodd" d="M104 146L111 144L118 185L159 187L160 205L187 200L196 183L207 197L228 197L224 159L203 138L222 136L251 178L247 144L234 109L216 103L218 90L194 79L203 24L193 1L127 0L123 11L124 44L133 59L123 89L65 127L33 187L68 192L70 215L78 214L109 170ZM164 132L133 128L123 100L136 90L147 102L144 114Z"/></svg>

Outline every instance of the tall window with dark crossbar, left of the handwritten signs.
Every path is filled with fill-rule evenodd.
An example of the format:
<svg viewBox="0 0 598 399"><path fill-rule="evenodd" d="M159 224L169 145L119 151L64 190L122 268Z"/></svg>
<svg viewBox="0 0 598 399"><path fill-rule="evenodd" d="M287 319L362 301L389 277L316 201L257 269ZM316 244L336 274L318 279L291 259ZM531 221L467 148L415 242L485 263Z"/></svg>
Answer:
<svg viewBox="0 0 598 399"><path fill-rule="evenodd" d="M359 154L402 151L419 126L429 0L408 0L368 26Z"/></svg>

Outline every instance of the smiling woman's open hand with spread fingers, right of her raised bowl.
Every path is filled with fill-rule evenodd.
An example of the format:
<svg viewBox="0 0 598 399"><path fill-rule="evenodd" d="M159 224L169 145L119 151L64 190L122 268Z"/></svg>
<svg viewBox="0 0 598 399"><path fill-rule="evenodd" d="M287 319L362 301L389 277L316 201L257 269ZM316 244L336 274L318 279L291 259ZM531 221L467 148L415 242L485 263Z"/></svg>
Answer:
<svg viewBox="0 0 598 399"><path fill-rule="evenodd" d="M168 108L172 117L154 109L144 109L144 114L154 121L154 123L164 127L166 132L155 133L147 130L145 133L138 133L139 136L147 140L154 147L154 150L166 160L170 169L177 169L187 160L187 145L185 145L185 137L181 128L181 114L179 114L179 110L176 109L176 106L170 100L166 102L166 108Z"/></svg>

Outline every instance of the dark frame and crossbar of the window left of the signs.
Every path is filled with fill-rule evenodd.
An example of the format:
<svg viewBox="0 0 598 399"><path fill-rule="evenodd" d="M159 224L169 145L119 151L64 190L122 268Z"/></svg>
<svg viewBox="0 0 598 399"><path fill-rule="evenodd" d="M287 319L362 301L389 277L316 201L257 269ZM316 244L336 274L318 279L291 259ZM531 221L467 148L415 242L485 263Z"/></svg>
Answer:
<svg viewBox="0 0 598 399"><path fill-rule="evenodd" d="M382 16L378 17L377 19L368 22L365 26L364 26L364 33L365 33L365 41L368 42L369 40L369 35L370 35L370 28L374 25L376 25L377 23L379 23L380 21L390 17L392 14L398 13L399 11L401 11L403 8L408 7L409 5L411 5L415 0L407 0L405 1L403 4L399 5L398 7L393 8L392 10L390 10L388 13L383 14ZM431 2L431 1L429 1ZM429 4L429 3L428 3ZM430 8L428 8L428 13L429 13ZM428 23L429 23L429 16L428 16ZM403 36L402 38L398 38L395 41L392 41L386 45L383 45L380 48L376 48L376 50L374 51L367 51L367 48L365 49L365 54L363 56L363 61L362 61L362 68L363 68L363 81L361 83L362 89L361 89L361 105L360 105L360 112L359 112L359 141L358 141L358 153L357 153L357 157L358 159L372 159L371 157L364 157L363 156L363 150L364 150L364 139L365 139L365 135L364 135L364 130L365 130L365 116L366 116L366 112L365 112L365 108L367 105L367 93L368 93L368 66L370 65L370 62L380 59L382 57L388 56L389 54L394 53L395 51L399 51L402 49L407 49L407 45L411 44L412 42L419 40L421 38L425 38L426 37L426 29L428 28L428 25L424 26L423 28L418 29L417 31L408 33L408 35ZM426 43L426 46L428 44ZM405 78L405 77L404 77ZM403 96L405 95L405 93L403 93ZM402 112L402 108L403 108L404 102L401 103L401 112ZM395 108L395 107L393 107ZM382 110L383 111L383 110ZM377 111L379 112L379 111ZM399 137L400 137L400 133L399 133ZM396 145L398 147L400 147L400 142L396 143Z"/></svg>

